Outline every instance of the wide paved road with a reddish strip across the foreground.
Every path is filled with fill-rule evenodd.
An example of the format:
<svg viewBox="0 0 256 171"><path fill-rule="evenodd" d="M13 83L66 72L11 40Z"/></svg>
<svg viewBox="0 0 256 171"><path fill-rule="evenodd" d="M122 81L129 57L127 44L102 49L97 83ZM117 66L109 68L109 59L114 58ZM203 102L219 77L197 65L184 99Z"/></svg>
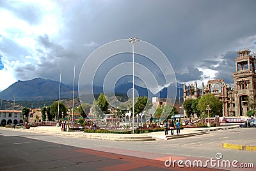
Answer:
<svg viewBox="0 0 256 171"><path fill-rule="evenodd" d="M253 163L255 169L255 151L220 147L225 140L249 140L255 131L243 128L154 142L110 142L0 130L0 170L180 170L177 166L166 168L164 161L170 157L172 160L205 161L215 159L217 152L222 154L223 160Z"/></svg>

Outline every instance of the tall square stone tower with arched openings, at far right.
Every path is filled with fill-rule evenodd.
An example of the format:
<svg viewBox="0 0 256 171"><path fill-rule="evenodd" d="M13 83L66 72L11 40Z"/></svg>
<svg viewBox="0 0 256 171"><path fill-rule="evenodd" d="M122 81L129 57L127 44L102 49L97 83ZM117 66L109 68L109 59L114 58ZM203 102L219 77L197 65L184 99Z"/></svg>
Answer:
<svg viewBox="0 0 256 171"><path fill-rule="evenodd" d="M255 57L250 56L251 51L243 49L237 51L236 72L234 78L234 103L236 116L246 116L248 108L248 99L256 98L256 73Z"/></svg>

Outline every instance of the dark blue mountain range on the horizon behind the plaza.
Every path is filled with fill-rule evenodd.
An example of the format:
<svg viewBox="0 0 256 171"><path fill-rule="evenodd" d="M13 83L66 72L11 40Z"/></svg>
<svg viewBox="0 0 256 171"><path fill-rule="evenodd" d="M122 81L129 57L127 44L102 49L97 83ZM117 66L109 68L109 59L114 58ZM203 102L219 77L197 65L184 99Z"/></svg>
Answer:
<svg viewBox="0 0 256 171"><path fill-rule="evenodd" d="M87 92L91 92L90 88L92 86L84 86L83 89ZM138 91L139 96L148 96L152 98L153 96L158 96L160 98L166 98L167 96L167 87L164 87L159 93L153 94L149 89L145 87L140 87L138 85L134 85L136 91ZM45 78L34 78L32 80L26 81L17 81L14 84L10 85L7 89L0 92L0 99L2 100L19 100L19 101L42 101L42 100L58 100L60 89L60 98L72 98L73 96L73 87L65 85L58 81L45 79ZM129 89L132 89L131 82L124 82L115 87L115 93L127 94L129 93ZM177 91L177 94L173 94ZM175 95L177 98L182 98L183 95L183 85L177 83L176 85L170 84L168 86L168 91L173 98ZM103 93L103 87L93 85L93 93L100 94ZM75 87L74 97L78 96L77 86ZM92 96L88 94L88 96Z"/></svg>

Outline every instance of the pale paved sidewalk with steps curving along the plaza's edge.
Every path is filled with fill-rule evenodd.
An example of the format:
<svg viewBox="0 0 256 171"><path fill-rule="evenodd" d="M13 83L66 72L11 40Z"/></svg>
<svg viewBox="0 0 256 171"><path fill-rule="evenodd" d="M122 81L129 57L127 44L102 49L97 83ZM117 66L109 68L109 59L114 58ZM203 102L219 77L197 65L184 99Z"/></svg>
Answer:
<svg viewBox="0 0 256 171"><path fill-rule="evenodd" d="M184 128L180 130L180 135L164 135L164 131L152 132L152 133L142 133L142 134L118 134L118 133L84 133L83 131L67 132L61 131L60 127L56 126L38 126L31 127L30 129L12 129L12 131L24 131L24 132L34 132L43 133L47 135L56 135L63 137L77 137L77 138L88 138L88 139L98 139L98 140L113 140L113 141L154 141L154 140L171 140L173 138L184 138L191 137L195 135L207 134L210 131L227 130L239 128L238 125L225 125L210 128ZM10 128L0 128L9 129ZM168 131L170 133L170 131ZM255 144L256 145L256 144Z"/></svg>

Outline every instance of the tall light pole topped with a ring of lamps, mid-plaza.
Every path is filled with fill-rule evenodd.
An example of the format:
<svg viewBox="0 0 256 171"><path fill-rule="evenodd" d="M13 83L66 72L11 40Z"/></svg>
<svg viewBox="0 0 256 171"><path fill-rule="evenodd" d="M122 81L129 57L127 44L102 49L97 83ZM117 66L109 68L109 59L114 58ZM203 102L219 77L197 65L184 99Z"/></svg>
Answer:
<svg viewBox="0 0 256 171"><path fill-rule="evenodd" d="M138 38L129 38L132 43L132 133L134 133L134 43L140 41Z"/></svg>

